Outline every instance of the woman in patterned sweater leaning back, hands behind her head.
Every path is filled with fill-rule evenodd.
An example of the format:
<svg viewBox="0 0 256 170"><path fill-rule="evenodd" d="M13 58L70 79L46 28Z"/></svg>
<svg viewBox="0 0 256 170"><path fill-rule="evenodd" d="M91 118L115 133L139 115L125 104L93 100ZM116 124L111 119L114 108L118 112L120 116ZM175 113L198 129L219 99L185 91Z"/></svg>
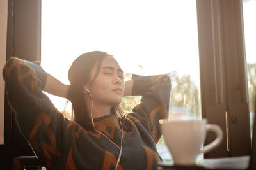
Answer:
<svg viewBox="0 0 256 170"><path fill-rule="evenodd" d="M47 169L156 169L159 119L168 118L170 78L123 71L106 52L79 56L63 85L40 67L12 57L3 70L6 92L20 131ZM42 92L72 102L65 118ZM127 114L123 96L142 95Z"/></svg>

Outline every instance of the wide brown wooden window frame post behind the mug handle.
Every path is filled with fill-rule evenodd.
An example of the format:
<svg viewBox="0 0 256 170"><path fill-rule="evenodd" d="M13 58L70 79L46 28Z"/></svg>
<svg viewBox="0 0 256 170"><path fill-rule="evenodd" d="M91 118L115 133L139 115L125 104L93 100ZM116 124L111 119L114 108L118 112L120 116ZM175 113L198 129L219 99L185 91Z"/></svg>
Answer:
<svg viewBox="0 0 256 170"><path fill-rule="evenodd" d="M202 117L224 132L205 157L249 155L250 115L241 0L197 0ZM210 134L207 143L215 136Z"/></svg>

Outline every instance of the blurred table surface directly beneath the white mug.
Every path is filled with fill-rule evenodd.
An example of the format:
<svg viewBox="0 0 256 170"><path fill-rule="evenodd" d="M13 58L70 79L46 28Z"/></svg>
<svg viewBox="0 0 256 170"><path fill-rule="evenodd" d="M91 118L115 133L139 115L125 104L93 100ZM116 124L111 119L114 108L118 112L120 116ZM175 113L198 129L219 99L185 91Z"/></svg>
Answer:
<svg viewBox="0 0 256 170"><path fill-rule="evenodd" d="M158 169L247 169L249 164L250 156L223 157L204 159L202 162L191 166L178 166L173 163L159 162Z"/></svg>

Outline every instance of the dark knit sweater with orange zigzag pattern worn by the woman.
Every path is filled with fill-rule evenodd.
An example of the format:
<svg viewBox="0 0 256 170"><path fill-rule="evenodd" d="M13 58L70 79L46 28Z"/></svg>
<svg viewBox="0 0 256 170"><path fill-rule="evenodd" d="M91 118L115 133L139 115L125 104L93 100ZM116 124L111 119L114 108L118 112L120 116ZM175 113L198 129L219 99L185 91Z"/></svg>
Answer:
<svg viewBox="0 0 256 170"><path fill-rule="evenodd" d="M3 70L8 101L23 134L47 169L115 169L119 150L97 131L64 117L42 92L47 74L39 62L12 57ZM132 95L140 103L122 117L124 139L118 169L156 169L159 119L168 118L170 78L133 76ZM120 146L115 115L94 118L95 127Z"/></svg>

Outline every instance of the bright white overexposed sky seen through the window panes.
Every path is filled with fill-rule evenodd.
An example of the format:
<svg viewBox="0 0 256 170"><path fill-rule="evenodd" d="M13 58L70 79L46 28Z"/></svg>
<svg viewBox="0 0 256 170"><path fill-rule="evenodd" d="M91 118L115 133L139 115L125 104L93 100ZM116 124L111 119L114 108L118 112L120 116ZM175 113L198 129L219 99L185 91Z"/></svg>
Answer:
<svg viewBox="0 0 256 170"><path fill-rule="evenodd" d="M246 18L256 16L255 3L251 0L244 4ZM244 22L250 21L244 19ZM196 23L195 0L45 0L42 1L42 66L68 83L72 61L82 53L101 50L114 55L127 73L177 71L180 76L190 74L199 87ZM248 62L255 62L256 58L255 43L247 44L249 40L255 42L255 30L255 24L245 27L250 32L250 36L245 33ZM56 106L63 108L63 103Z"/></svg>

